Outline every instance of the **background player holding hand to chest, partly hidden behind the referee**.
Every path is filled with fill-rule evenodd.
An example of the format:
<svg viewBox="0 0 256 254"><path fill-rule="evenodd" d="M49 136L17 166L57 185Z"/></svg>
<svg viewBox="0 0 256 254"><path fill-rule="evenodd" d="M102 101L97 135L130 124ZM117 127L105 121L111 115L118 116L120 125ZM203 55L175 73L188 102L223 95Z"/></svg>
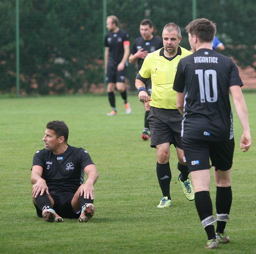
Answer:
<svg viewBox="0 0 256 254"><path fill-rule="evenodd" d="M135 39L131 55L129 57L129 63L135 63L137 61L138 71L140 70L145 57L148 53L154 52L163 47L163 40L154 36L152 33L154 31L153 23L151 20L145 19L140 22L140 35ZM146 84L146 90L148 93L148 99L150 99L152 85L151 79ZM144 129L141 135L143 140L148 140L150 136L148 114L150 111L149 101L144 102L145 117L144 117Z"/></svg>

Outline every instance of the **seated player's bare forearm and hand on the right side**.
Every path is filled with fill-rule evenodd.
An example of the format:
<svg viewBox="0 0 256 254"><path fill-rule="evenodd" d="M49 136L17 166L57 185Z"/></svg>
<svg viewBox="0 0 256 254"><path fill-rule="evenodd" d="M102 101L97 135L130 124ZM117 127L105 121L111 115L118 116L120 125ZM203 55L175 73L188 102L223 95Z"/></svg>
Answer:
<svg viewBox="0 0 256 254"><path fill-rule="evenodd" d="M94 187L99 175L95 165L91 164L84 168L84 172L87 174L87 180L81 185L80 196L84 195L84 198L94 199Z"/></svg>

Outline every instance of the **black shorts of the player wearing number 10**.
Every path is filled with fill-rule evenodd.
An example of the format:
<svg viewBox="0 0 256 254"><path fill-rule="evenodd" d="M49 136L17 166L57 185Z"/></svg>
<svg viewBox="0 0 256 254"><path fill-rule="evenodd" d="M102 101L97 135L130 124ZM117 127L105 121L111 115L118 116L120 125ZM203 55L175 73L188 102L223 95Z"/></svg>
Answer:
<svg viewBox="0 0 256 254"><path fill-rule="evenodd" d="M210 169L210 160L215 170L226 171L232 167L235 148L234 138L223 141L182 138L188 171Z"/></svg>

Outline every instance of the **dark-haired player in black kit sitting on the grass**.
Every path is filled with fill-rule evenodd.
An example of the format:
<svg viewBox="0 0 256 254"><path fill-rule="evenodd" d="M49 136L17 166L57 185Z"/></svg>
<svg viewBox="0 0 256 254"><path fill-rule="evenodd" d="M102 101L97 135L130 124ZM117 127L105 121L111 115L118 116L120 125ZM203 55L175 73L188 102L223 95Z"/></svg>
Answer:
<svg viewBox="0 0 256 254"><path fill-rule="evenodd" d="M67 144L68 126L63 121L47 123L44 134L45 148L36 152L31 169L37 216L49 222L62 222L62 217L87 222L95 211L97 169L84 148Z"/></svg>

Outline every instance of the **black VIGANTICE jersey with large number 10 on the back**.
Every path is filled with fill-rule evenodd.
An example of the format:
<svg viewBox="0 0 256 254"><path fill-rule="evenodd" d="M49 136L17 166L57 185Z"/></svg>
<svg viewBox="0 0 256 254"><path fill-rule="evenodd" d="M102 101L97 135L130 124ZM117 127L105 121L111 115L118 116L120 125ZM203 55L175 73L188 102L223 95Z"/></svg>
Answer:
<svg viewBox="0 0 256 254"><path fill-rule="evenodd" d="M212 141L232 139L228 88L233 85L243 83L230 58L200 49L181 59L173 85L173 90L186 93L181 135Z"/></svg>

